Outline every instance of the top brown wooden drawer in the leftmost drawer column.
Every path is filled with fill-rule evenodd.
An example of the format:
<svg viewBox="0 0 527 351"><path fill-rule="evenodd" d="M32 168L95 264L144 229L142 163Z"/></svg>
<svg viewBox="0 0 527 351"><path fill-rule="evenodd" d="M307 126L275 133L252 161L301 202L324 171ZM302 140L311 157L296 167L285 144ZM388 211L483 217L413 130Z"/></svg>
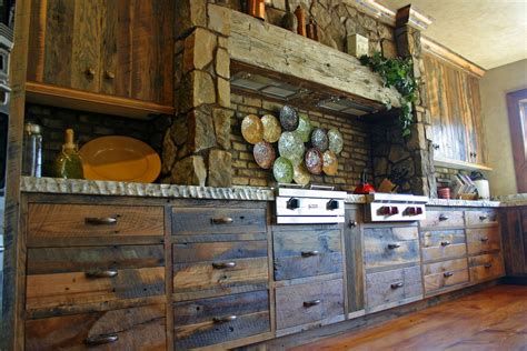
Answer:
<svg viewBox="0 0 527 351"><path fill-rule="evenodd" d="M28 225L28 245L80 245L79 239L105 244L122 237L162 237L163 208L31 203Z"/></svg>

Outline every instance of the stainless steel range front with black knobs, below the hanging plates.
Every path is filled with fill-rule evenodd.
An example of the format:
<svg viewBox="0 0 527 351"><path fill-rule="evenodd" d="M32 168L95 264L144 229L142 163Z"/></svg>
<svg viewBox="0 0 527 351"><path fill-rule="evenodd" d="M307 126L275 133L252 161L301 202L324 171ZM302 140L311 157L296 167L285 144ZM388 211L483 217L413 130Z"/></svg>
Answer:
<svg viewBox="0 0 527 351"><path fill-rule="evenodd" d="M278 188L276 222L278 224L344 223L346 197L345 191L332 191L331 187Z"/></svg>

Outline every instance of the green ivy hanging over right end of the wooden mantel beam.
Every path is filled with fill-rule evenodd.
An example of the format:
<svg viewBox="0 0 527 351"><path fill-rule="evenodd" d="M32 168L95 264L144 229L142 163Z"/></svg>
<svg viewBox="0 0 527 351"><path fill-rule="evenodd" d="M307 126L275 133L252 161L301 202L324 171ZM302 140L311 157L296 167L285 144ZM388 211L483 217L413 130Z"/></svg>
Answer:
<svg viewBox="0 0 527 351"><path fill-rule="evenodd" d="M360 63L371 68L379 73L385 87L395 87L401 94L399 123L402 137L410 136L410 127L414 121L412 103L417 99L417 81L414 79L414 64L411 59L388 59L380 52L375 52L372 57L366 54L360 57ZM391 104L386 103L388 110Z"/></svg>

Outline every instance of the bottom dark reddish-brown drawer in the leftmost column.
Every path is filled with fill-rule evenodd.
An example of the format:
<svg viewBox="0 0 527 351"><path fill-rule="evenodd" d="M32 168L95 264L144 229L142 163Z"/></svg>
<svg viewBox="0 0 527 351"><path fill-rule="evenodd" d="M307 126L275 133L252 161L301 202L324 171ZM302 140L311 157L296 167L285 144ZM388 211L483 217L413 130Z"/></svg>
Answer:
<svg viewBox="0 0 527 351"><path fill-rule="evenodd" d="M156 304L29 320L26 350L166 350L165 313Z"/></svg>

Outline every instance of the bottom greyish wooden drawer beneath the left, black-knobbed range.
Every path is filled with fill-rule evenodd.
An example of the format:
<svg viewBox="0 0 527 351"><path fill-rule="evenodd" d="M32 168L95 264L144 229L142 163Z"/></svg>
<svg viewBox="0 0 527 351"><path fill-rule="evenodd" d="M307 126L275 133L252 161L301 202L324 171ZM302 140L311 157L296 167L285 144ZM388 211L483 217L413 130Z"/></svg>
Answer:
<svg viewBox="0 0 527 351"><path fill-rule="evenodd" d="M277 329L344 314L342 279L276 289Z"/></svg>

